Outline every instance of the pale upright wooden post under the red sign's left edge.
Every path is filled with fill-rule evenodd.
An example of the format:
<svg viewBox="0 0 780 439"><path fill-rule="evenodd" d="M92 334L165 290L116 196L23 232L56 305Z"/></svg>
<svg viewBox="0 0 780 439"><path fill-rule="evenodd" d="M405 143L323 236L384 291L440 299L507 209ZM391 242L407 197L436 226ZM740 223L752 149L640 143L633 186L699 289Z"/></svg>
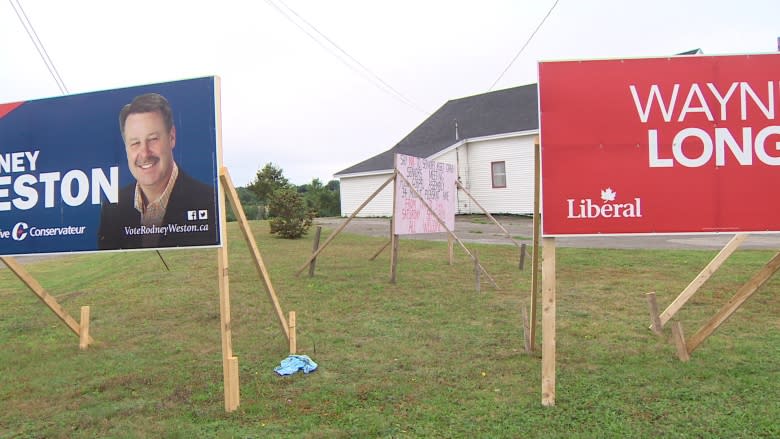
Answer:
<svg viewBox="0 0 780 439"><path fill-rule="evenodd" d="M542 242L542 405L555 405L555 238Z"/></svg>

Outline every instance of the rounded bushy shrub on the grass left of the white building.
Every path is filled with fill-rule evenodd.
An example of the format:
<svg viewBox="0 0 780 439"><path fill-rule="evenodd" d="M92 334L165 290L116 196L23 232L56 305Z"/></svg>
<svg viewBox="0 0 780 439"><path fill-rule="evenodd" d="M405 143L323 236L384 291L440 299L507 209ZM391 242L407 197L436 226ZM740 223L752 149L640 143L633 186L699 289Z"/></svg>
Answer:
<svg viewBox="0 0 780 439"><path fill-rule="evenodd" d="M306 207L301 194L293 187L277 189L270 195L269 221L271 233L282 238L296 239L311 227L315 212Z"/></svg>

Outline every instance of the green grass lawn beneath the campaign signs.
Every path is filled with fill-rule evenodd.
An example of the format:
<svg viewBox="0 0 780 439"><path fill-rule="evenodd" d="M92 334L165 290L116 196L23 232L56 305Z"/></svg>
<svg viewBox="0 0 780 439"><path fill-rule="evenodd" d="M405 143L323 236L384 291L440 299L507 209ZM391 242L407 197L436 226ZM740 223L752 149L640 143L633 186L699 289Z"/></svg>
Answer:
<svg viewBox="0 0 780 439"><path fill-rule="evenodd" d="M311 241L252 225L317 372L274 374L287 342L235 223L233 413L222 393L216 250L164 251L170 272L154 252L47 260L27 268L75 318L91 306L96 344L79 351L0 270L0 437L780 436L780 278L688 363L668 330L647 329L645 293L663 309L714 251L558 249L556 406L542 407L540 354L522 348L531 280L516 247L469 246L501 287L483 278L476 293L471 261L458 252L447 265L446 243L402 240L391 284L387 250L368 261L385 239L342 234L315 277L295 277ZM686 334L770 257L735 253L678 313Z"/></svg>

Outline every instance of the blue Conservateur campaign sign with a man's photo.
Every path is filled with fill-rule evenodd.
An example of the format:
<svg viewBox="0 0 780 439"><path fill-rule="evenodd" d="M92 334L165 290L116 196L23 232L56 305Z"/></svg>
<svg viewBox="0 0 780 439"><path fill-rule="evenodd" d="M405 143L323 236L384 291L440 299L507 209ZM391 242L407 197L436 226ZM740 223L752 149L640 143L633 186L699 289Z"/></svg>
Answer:
<svg viewBox="0 0 780 439"><path fill-rule="evenodd" d="M221 245L217 81L0 104L0 255Z"/></svg>

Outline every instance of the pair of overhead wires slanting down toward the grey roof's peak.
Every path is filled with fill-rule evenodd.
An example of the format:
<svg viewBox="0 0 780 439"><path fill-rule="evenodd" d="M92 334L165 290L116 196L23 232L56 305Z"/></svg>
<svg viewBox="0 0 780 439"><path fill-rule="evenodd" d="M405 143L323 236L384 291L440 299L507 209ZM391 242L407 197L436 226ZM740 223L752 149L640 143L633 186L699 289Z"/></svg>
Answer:
<svg viewBox="0 0 780 439"><path fill-rule="evenodd" d="M348 53L346 50L342 49L342 48L341 48L341 46L339 46L338 44L336 44L336 42L334 42L333 40L331 40L330 38L328 38L328 36L327 36L327 35L325 35L324 33L320 32L320 30L319 30L319 29L317 29L317 27L316 27L316 26L314 26L313 24L309 23L309 22L308 22L308 21L307 21L305 18L303 18L303 17L302 17L300 14L298 14L298 13L297 13L297 12L295 12L295 11L294 11L292 8L290 8L289 6L287 6L287 4L285 4L285 3L284 3L282 0L277 0L277 2L278 2L279 4L281 4L282 6L284 6L284 8L285 8L287 11L289 11L290 13L292 13L292 14L293 14L293 15L294 15L294 16L297 18L297 20L296 20L296 19L294 19L293 17L291 17L291 16L290 16L290 15L287 13L287 11L283 10L282 8L280 8L280 7L279 7L279 6L278 6L276 3L274 3L272 0L266 0L266 3L268 3L269 5L271 5L271 6L272 6L274 9L276 9L276 10L277 10L277 11L278 11L280 14L282 14L282 15L283 15L283 16L284 16L284 17L285 17L285 18L286 18L288 21L290 21L291 23L293 23L293 24L294 24L294 25L295 25L295 26L296 26L298 29L300 29L300 30L301 30L301 31L303 31L303 32L304 32L306 35L308 35L308 36L309 36L309 38L311 38L312 40L314 40L314 42L316 42L316 43L317 43L317 44L318 44L320 47L322 47L322 48L323 48L323 49L325 49L326 51L330 52L330 53L331 53L333 56L335 56L335 57L336 57L336 58L337 58L339 61L341 61L341 62L342 62L344 65L346 65L346 66L347 66L347 67L348 67L350 70L352 70L353 72L355 72L355 73L357 73L357 74L359 74L359 75L363 76L363 77L364 77L364 78L366 78L366 79L367 79L369 82L371 82L371 84L372 84L372 85L374 85L374 86L375 86L375 87L377 87L378 89L382 90L383 92L385 92L385 93L387 93L387 94L389 94L389 95L393 96L394 98L398 99L399 101L401 101L401 102L402 102L402 103L404 103L405 105L408 105L408 106L410 106L410 107L414 108L415 110L419 111L420 113L423 113L423 114L428 114L428 115L430 114L430 112L429 112L429 111L426 111L426 110L422 109L422 108L421 108L419 105L417 105L417 104L416 104L414 101L412 101L411 99L409 99L409 98L407 98L406 96L404 96L404 95L403 95L401 92L399 92L398 90L396 90L395 88L393 88L393 87L392 87L390 84L388 84L388 83L387 83L385 80L383 80L382 78L380 78L380 77L379 77L379 75L377 75L376 73L372 72L372 71L371 71L371 70L370 70L368 67L366 67L366 66L365 66L365 65L363 65L363 64L362 64L360 61L358 61L358 60L357 60L355 57L353 57L352 55L350 55L350 54L349 54L349 53ZM304 23L306 26L303 26L301 23L299 23L299 21L298 21L298 20L300 20L301 22L303 22L303 23ZM311 29L311 31L310 31L310 29ZM312 31L313 31L314 33L312 33ZM316 34L316 35L315 35L315 34ZM319 38L318 38L318 36L319 36ZM323 39L324 39L324 40L325 40L325 41L326 41L328 44L325 44L325 42L323 42L323 41L322 41ZM334 53L334 50L333 50L334 48L335 48L335 50L336 50L336 51L338 51L338 53L341 53L341 56L340 56L338 53ZM346 60L344 59L345 57L347 58ZM347 60L349 60L349 61L351 61L351 62L347 62Z"/></svg>

